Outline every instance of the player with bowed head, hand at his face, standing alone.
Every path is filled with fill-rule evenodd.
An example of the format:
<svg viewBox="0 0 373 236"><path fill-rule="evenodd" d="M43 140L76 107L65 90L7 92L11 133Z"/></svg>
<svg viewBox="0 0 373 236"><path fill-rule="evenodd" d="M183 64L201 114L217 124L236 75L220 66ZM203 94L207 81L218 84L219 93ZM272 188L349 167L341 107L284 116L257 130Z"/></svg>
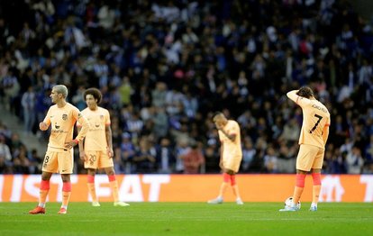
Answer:
<svg viewBox="0 0 373 236"><path fill-rule="evenodd" d="M213 121L221 141L219 166L223 170L223 183L220 186L219 195L207 203L222 204L223 194L231 183L233 194L236 196L236 204L243 204L236 183L236 173L240 169L242 159L240 125L233 120L228 120L223 113L215 113Z"/></svg>

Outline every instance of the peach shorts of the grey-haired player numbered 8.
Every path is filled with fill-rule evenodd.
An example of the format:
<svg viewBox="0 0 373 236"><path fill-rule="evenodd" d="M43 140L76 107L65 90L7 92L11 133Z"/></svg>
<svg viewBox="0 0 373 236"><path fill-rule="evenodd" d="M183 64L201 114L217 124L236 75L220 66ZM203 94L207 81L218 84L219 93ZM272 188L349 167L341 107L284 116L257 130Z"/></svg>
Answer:
<svg viewBox="0 0 373 236"><path fill-rule="evenodd" d="M59 174L72 174L74 168L74 150L64 150L63 152L47 150L42 171Z"/></svg>

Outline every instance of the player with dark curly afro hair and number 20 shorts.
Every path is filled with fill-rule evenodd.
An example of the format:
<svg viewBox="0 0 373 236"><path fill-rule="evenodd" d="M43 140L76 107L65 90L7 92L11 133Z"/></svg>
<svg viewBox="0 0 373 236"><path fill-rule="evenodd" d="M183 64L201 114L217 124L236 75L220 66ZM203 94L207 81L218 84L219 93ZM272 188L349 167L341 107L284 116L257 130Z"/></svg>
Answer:
<svg viewBox="0 0 373 236"><path fill-rule="evenodd" d="M110 114L105 108L98 106L102 94L97 88L88 88L84 92L86 109L82 114L90 124L84 141L79 142L79 156L84 160L87 169L87 186L92 196L92 205L100 206L96 196L95 175L97 168L104 168L109 178L110 187L114 196L114 206L127 206L130 204L119 201L118 182L115 178L113 162L112 129L110 128ZM78 130L80 123L77 123Z"/></svg>

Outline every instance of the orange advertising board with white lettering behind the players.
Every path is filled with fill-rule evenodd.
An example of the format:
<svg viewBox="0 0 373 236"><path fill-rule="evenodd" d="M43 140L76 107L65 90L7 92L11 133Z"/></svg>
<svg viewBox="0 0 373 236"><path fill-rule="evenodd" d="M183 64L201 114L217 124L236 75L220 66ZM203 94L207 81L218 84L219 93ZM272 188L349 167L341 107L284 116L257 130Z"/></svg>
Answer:
<svg viewBox="0 0 373 236"><path fill-rule="evenodd" d="M292 195L295 175L237 175L244 202L282 202ZM223 181L222 175L117 175L121 200L125 202L205 202L214 198ZM0 202L37 202L40 175L0 175ZM90 201L86 176L72 175L70 201ZM373 175L323 175L321 202L373 202ZM307 176L303 202L312 200L312 177ZM50 179L48 201L60 202L62 181ZM100 202L113 201L108 179L96 175ZM224 201L234 201L228 188Z"/></svg>

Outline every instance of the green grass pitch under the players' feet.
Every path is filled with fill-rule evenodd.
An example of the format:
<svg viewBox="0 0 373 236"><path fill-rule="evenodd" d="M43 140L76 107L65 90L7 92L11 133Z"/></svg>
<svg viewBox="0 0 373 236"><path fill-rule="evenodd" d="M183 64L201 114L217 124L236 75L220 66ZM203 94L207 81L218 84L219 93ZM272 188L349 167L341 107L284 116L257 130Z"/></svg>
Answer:
<svg viewBox="0 0 373 236"><path fill-rule="evenodd" d="M282 203L70 203L59 215L28 213L35 203L0 203L0 235L373 235L373 204L319 204L278 212Z"/></svg>

